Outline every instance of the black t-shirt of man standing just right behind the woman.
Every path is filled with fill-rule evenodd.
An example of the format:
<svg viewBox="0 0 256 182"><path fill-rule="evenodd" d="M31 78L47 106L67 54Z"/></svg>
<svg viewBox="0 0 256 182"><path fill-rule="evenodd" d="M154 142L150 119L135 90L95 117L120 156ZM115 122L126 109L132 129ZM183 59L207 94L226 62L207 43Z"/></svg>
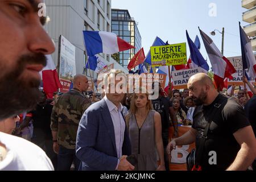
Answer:
<svg viewBox="0 0 256 182"><path fill-rule="evenodd" d="M156 100L152 100L152 105L154 110L161 115L162 131L168 129L170 126L169 107L172 107L171 101L166 97L160 96Z"/></svg>

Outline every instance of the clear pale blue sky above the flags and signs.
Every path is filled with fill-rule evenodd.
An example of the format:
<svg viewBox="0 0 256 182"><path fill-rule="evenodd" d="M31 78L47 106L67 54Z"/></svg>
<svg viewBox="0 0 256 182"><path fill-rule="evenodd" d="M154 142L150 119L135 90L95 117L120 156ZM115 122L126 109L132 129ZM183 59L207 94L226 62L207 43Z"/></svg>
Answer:
<svg viewBox="0 0 256 182"><path fill-rule="evenodd" d="M209 16L210 3L216 4L216 16ZM164 42L175 44L186 42L185 30L192 40L196 35L201 42L201 53L208 57L201 39L198 26L213 39L221 50L221 34L209 34L214 29L222 31L225 28L224 56L240 56L240 33L238 22L242 22L242 13L246 11L241 6L241 0L112 0L112 8L127 9L135 21L138 22L142 36L142 47L145 54L150 49L156 36ZM189 48L187 44L187 56ZM209 64L209 59L208 59Z"/></svg>

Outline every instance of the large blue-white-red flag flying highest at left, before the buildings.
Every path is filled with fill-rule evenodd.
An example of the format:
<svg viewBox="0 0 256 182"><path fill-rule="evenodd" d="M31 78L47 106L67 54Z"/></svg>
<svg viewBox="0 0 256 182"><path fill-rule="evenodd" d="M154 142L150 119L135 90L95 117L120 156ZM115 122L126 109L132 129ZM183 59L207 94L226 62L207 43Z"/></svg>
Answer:
<svg viewBox="0 0 256 182"><path fill-rule="evenodd" d="M120 51L135 48L112 32L83 31L83 33L88 56L94 56L97 53L112 55Z"/></svg>

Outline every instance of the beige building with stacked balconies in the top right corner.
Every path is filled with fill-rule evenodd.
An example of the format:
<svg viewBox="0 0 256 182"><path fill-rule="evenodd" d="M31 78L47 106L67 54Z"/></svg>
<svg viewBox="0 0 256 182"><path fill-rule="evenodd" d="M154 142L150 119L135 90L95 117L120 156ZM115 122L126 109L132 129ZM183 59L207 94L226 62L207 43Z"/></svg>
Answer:
<svg viewBox="0 0 256 182"><path fill-rule="evenodd" d="M243 30L250 36L251 46L256 51L256 0L242 0L242 7L247 9L242 14L243 21L249 23Z"/></svg>

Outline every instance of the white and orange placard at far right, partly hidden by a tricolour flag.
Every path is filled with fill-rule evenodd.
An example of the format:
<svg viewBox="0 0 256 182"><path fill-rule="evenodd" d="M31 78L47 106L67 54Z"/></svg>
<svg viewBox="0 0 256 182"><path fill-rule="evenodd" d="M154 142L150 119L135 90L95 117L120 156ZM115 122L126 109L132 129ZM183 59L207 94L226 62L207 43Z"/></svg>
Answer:
<svg viewBox="0 0 256 182"><path fill-rule="evenodd" d="M232 74L233 80L228 78L228 85L244 85L243 84L243 65L242 65L242 56L236 57L228 57L230 63L232 63L233 67L236 69L236 73ZM246 72L248 72L246 70ZM255 84L255 80L253 77L250 77L251 83Z"/></svg>

